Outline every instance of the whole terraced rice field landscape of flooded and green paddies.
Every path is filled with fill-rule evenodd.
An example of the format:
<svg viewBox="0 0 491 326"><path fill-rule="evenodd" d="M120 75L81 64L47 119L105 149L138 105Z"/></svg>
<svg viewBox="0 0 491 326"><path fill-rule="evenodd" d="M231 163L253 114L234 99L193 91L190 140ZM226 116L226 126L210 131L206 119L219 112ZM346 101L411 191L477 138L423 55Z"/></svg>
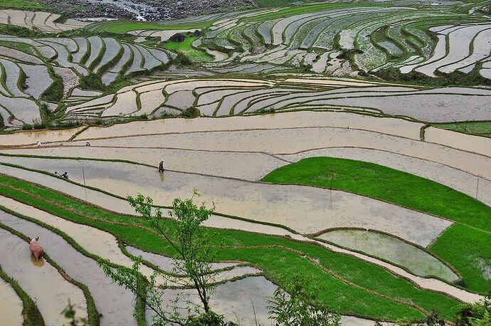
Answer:
<svg viewBox="0 0 491 326"><path fill-rule="evenodd" d="M0 36L4 320L62 325L70 300L87 325L152 325L99 265L138 257L163 309L188 317L201 301L176 275L174 233L126 197L152 197L174 230L167 209L197 188L216 206L203 231L225 320L272 324L268 298L303 275L339 325L433 312L451 325L491 290L486 10L343 1L166 23L1 10L30 28Z"/></svg>

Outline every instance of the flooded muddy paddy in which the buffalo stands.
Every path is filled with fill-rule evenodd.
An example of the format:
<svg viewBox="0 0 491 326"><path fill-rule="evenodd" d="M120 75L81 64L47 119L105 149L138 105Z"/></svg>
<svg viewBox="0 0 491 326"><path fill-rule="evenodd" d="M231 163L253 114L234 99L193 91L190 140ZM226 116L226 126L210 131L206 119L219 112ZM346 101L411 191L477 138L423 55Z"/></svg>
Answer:
<svg viewBox="0 0 491 326"><path fill-rule="evenodd" d="M4 211L0 211L1 223L4 223L4 218L9 218L7 215ZM36 236L36 234L28 234L28 236ZM44 246L46 242L40 237L39 243ZM58 270L43 258L41 261L36 261L31 256L26 241L0 228L0 248L2 270L19 282L22 289L34 300L46 325L63 325L66 322L60 311L68 305L68 300L75 305L78 317L87 317L82 290L65 280Z"/></svg>

